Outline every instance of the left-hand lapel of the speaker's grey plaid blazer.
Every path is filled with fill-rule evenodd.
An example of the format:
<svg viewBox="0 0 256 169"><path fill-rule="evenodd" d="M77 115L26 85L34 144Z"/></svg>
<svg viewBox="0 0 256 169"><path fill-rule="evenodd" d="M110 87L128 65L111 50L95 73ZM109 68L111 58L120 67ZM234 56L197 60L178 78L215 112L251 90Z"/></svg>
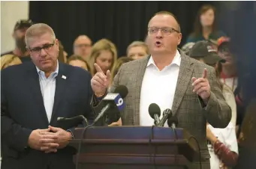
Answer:
<svg viewBox="0 0 256 169"><path fill-rule="evenodd" d="M140 60L139 64L138 64L138 68L137 68L137 77L136 77L136 87L137 89L135 90L136 93L134 93L135 95L135 99L134 99L134 105L135 105L135 111L134 111L134 125L135 126L140 126L140 91L141 91L141 85L143 82L143 77L146 71L146 65L148 64L150 55L146 58L143 58Z"/></svg>

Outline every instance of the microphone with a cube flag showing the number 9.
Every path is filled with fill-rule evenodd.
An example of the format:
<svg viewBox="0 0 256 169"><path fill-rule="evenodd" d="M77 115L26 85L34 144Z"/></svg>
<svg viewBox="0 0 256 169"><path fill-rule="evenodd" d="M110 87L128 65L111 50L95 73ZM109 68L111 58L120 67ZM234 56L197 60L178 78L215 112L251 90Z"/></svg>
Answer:
<svg viewBox="0 0 256 169"><path fill-rule="evenodd" d="M101 112L98 114L98 116L95 118L94 123L97 123L98 120L101 119L106 113L106 111L111 107L115 106L119 109L119 111L122 111L123 108L125 108L124 98L128 94L128 88L124 85L119 85L116 87L114 93L107 93L106 96L102 99L103 102L106 102L107 105L104 106L104 108L101 109Z"/></svg>

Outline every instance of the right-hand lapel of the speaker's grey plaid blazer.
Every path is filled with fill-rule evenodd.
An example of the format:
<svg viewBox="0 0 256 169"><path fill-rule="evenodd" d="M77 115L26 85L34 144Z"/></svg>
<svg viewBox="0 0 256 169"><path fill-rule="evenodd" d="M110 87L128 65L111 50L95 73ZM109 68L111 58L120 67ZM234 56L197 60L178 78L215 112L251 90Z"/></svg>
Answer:
<svg viewBox="0 0 256 169"><path fill-rule="evenodd" d="M179 67L179 76L176 84L176 90L173 98L173 115L176 114L176 111L182 102L185 91L188 89L188 84L191 84L191 76L194 70L194 64L191 62L191 59L180 50L179 53L181 56L181 63Z"/></svg>

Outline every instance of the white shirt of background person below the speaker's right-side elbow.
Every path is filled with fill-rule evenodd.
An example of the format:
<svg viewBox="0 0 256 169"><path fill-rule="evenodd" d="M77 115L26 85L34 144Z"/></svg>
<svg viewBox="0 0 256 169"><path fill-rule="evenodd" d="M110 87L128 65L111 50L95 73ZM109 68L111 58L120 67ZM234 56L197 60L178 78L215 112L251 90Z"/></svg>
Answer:
<svg viewBox="0 0 256 169"><path fill-rule="evenodd" d="M226 128L219 129L213 128L210 124L208 124L209 129L212 131L213 135L218 138L221 143L225 146L229 147L229 149L235 153L238 153L238 146L236 141L236 128L233 123L229 123ZM219 169L219 165L221 165L221 161L218 159L218 156L215 155L212 144L208 144L209 154L211 156L210 165L211 169Z"/></svg>

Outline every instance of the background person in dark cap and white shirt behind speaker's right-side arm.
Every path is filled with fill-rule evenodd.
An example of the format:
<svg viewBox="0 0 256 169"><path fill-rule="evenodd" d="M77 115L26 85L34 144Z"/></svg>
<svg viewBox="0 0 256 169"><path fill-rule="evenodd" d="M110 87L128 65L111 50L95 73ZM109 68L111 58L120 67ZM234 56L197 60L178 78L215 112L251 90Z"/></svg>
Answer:
<svg viewBox="0 0 256 169"><path fill-rule="evenodd" d="M223 63L224 59L218 56L218 52L212 43L203 40L198 41L191 48L190 57L215 67L216 77L220 81L218 62ZM238 159L238 146L236 140L236 102L233 91L226 84L220 82L222 94L230 105L232 117L230 123L224 129L212 127L209 123L206 126L206 138L210 153L211 169L231 168L236 165Z"/></svg>

